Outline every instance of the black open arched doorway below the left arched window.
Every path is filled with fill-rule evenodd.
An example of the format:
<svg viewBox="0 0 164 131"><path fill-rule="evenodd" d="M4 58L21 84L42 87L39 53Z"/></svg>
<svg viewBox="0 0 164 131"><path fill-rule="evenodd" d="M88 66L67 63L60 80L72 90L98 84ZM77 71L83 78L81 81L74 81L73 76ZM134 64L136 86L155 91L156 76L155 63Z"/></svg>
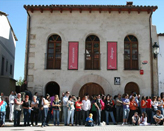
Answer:
<svg viewBox="0 0 164 131"><path fill-rule="evenodd" d="M56 82L49 82L46 85L45 93L50 94L50 96L53 96L55 94L60 96L60 86Z"/></svg>

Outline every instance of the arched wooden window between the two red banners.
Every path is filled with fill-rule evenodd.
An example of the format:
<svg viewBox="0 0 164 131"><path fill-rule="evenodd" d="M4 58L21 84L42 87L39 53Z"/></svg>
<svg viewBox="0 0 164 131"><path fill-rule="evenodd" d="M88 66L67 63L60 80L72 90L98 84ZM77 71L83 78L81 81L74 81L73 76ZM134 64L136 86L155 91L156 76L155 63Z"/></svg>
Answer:
<svg viewBox="0 0 164 131"><path fill-rule="evenodd" d="M95 35L90 35L85 43L85 69L100 69L100 40Z"/></svg>

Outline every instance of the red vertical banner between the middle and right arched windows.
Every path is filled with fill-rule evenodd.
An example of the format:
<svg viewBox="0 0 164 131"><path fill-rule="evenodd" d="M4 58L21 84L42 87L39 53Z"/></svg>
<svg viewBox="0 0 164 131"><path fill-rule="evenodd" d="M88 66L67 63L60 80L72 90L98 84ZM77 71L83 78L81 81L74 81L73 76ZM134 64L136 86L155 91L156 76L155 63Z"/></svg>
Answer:
<svg viewBox="0 0 164 131"><path fill-rule="evenodd" d="M107 69L117 69L117 42L108 42L108 61Z"/></svg>

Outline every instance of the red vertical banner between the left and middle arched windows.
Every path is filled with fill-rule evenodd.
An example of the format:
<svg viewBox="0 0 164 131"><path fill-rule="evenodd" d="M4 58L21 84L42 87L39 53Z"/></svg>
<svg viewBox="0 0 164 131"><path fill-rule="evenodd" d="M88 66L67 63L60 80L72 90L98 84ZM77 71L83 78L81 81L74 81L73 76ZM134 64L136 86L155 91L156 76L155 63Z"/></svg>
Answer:
<svg viewBox="0 0 164 131"><path fill-rule="evenodd" d="M68 69L78 70L78 42L69 42Z"/></svg>

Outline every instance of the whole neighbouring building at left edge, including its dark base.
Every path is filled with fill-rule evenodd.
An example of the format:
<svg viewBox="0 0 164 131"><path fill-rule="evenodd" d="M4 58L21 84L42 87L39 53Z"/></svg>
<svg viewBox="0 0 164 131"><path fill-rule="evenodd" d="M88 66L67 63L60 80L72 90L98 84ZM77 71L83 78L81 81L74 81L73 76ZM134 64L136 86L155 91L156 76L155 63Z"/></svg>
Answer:
<svg viewBox="0 0 164 131"><path fill-rule="evenodd" d="M15 90L16 81L13 77L16 41L7 14L0 11L0 92L4 95Z"/></svg>

